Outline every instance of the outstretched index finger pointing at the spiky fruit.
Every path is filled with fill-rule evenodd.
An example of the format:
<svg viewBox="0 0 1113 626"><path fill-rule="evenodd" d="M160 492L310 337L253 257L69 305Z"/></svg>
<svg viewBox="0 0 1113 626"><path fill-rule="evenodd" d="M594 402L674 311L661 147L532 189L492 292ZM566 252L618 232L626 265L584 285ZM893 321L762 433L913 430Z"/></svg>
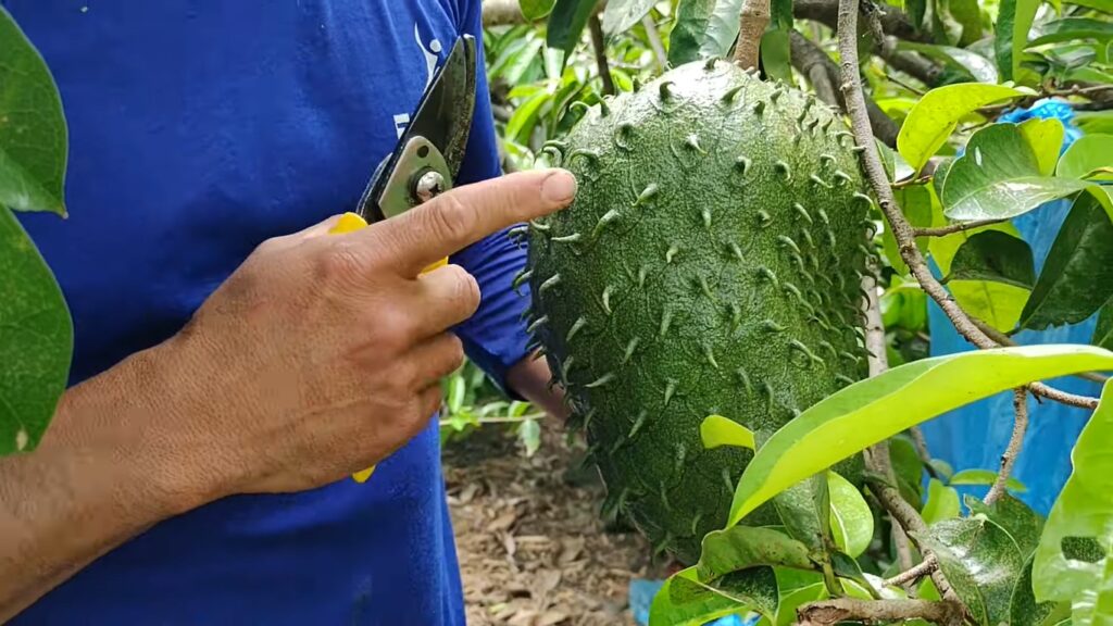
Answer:
<svg viewBox="0 0 1113 626"><path fill-rule="evenodd" d="M565 169L509 174L450 189L363 232L412 277L502 228L564 208L575 188L575 177Z"/></svg>

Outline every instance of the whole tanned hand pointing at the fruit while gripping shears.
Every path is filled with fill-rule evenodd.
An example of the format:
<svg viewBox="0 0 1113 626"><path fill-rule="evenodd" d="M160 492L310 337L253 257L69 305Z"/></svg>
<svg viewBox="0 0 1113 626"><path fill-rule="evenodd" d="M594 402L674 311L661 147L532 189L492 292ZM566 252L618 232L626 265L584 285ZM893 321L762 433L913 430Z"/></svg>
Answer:
<svg viewBox="0 0 1113 626"><path fill-rule="evenodd" d="M335 218L264 242L150 362L167 398L160 453L203 501L295 491L371 467L440 407L463 360L449 329L480 302L429 264L567 206L574 178L525 172L452 189L345 234Z"/></svg>

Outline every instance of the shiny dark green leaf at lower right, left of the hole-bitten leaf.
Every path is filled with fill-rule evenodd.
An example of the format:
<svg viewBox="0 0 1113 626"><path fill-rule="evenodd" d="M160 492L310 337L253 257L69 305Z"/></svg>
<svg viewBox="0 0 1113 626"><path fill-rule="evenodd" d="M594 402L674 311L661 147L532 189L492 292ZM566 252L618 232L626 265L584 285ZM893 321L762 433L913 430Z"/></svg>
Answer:
<svg viewBox="0 0 1113 626"><path fill-rule="evenodd" d="M978 516L948 519L909 535L935 551L939 568L975 622L996 626L1008 620L1024 559L1004 528Z"/></svg>

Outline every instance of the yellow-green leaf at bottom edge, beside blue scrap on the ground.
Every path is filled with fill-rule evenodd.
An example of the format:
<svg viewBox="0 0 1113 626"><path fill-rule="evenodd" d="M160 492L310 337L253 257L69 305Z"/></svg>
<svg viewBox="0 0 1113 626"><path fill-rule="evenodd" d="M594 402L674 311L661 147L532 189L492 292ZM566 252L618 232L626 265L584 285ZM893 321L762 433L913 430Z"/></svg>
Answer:
<svg viewBox="0 0 1113 626"><path fill-rule="evenodd" d="M696 568L669 577L653 596L650 626L703 626L728 615L745 615L749 608L776 615L777 578L768 567L756 567L725 576L715 585L701 583Z"/></svg>

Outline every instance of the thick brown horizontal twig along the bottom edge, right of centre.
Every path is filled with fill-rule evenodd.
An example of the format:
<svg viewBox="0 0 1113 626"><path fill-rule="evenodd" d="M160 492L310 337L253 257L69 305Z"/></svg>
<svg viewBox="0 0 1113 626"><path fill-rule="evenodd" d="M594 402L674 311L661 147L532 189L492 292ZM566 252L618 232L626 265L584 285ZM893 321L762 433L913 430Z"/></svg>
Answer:
<svg viewBox="0 0 1113 626"><path fill-rule="evenodd" d="M879 624L917 617L956 626L963 620L963 607L952 601L834 598L808 603L796 609L796 616L801 626L833 626L841 622Z"/></svg>

